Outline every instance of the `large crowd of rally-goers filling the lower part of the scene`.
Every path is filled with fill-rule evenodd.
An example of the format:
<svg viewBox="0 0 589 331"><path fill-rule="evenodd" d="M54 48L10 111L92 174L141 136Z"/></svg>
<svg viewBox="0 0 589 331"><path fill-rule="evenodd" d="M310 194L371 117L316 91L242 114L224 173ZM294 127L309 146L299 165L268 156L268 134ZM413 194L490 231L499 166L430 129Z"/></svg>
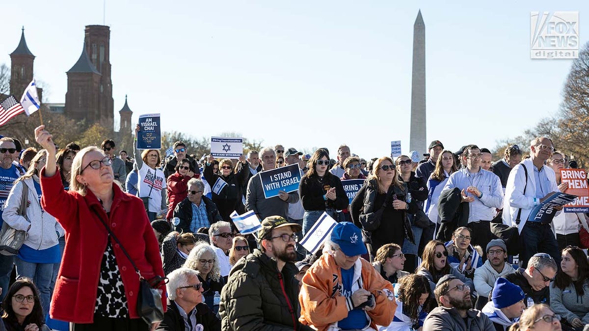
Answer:
<svg viewBox="0 0 589 331"><path fill-rule="evenodd" d="M0 138L1 219L27 234L0 254L0 331L589 329L587 215L529 217L576 167L550 138L495 161L435 140L368 162L347 145L216 160L35 138ZM293 164L299 189L266 198L260 173ZM351 202L345 180L363 180ZM261 229L240 234L234 211ZM307 251L324 214L337 223ZM141 318L144 280L163 320Z"/></svg>

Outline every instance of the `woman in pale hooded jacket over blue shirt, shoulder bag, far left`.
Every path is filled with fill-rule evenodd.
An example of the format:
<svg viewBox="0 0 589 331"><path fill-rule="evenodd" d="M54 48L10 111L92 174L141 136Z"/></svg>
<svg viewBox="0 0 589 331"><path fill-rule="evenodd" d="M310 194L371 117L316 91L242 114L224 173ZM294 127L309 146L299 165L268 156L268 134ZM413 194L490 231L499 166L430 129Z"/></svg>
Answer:
<svg viewBox="0 0 589 331"><path fill-rule="evenodd" d="M49 313L51 283L54 264L61 260L59 237L65 231L55 217L41 207L39 173L47 161L47 150L40 150L31 161L24 176L18 178L8 195L2 218L13 229L27 231L27 236L16 255L16 279L32 279L41 293L41 306L45 316ZM27 194L26 218L18 213L22 195Z"/></svg>

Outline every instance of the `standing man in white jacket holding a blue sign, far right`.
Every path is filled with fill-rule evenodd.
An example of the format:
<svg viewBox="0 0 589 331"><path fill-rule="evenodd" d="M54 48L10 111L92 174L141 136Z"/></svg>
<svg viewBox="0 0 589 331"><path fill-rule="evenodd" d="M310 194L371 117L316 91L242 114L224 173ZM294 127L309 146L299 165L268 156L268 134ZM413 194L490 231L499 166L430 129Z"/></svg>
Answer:
<svg viewBox="0 0 589 331"><path fill-rule="evenodd" d="M548 253L560 263L558 243L554 236L554 224L527 221L532 208L552 193L565 191L558 188L556 175L544 163L554 151L547 137L534 138L530 142L530 158L509 173L503 206L503 223L517 226L519 230L519 266L525 268L528 259L538 251ZM525 191L525 192L524 192ZM561 210L562 207L554 207Z"/></svg>

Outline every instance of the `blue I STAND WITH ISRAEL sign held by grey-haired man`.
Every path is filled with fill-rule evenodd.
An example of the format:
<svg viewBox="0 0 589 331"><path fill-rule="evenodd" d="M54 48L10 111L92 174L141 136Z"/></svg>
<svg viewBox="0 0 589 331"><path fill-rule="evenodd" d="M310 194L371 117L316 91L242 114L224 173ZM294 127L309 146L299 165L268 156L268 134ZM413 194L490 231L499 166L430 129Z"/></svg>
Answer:
<svg viewBox="0 0 589 331"><path fill-rule="evenodd" d="M300 177L298 163L282 168L262 171L260 173L260 180L262 180L264 197L277 197L278 191L290 193L299 190Z"/></svg>

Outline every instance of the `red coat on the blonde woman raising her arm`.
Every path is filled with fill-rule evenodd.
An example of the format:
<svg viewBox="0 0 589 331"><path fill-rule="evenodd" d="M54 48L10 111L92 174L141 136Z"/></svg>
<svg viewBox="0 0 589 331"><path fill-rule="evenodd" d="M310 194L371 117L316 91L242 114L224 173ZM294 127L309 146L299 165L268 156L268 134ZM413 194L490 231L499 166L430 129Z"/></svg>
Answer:
<svg viewBox="0 0 589 331"><path fill-rule="evenodd" d="M65 229L65 250L51 304L51 317L74 323L92 323L96 292L100 277L100 264L107 247L108 231L98 219L110 226L111 231L127 250L145 279L156 275L164 277L160 251L151 224L140 198L124 193L112 184L114 198L110 217L107 217L98 198L91 191L85 196L65 191L59 173L45 177L41 171L41 205ZM121 248L111 239L118 269L125 287L129 316L138 318L137 294L139 277ZM166 309L166 287L161 286L161 302Z"/></svg>

